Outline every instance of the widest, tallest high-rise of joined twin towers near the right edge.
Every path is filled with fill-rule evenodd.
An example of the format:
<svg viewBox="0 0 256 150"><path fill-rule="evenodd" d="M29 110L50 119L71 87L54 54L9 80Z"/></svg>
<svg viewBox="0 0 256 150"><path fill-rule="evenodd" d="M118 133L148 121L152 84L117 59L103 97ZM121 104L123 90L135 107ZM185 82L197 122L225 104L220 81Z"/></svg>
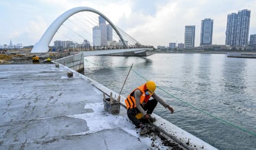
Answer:
<svg viewBox="0 0 256 150"><path fill-rule="evenodd" d="M226 45L248 46L250 16L251 11L248 9L228 14Z"/></svg>

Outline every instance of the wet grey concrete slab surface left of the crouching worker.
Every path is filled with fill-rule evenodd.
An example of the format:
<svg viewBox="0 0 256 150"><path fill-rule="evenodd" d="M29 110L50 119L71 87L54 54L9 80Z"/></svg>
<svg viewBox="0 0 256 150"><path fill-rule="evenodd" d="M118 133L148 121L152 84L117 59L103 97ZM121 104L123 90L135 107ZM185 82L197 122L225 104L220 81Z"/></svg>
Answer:
<svg viewBox="0 0 256 150"><path fill-rule="evenodd" d="M54 64L1 65L0 149L151 147L151 138L136 133L125 108L119 115L105 112L102 92L81 74L66 77L67 71Z"/></svg>

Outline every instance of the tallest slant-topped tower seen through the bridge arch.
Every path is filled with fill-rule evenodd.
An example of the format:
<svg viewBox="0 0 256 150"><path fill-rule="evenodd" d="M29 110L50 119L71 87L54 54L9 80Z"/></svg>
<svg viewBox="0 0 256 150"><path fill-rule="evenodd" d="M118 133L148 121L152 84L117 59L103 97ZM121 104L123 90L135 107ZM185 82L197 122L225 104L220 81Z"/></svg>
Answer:
<svg viewBox="0 0 256 150"><path fill-rule="evenodd" d="M107 24L102 16L99 16L99 29L101 46L107 46Z"/></svg>

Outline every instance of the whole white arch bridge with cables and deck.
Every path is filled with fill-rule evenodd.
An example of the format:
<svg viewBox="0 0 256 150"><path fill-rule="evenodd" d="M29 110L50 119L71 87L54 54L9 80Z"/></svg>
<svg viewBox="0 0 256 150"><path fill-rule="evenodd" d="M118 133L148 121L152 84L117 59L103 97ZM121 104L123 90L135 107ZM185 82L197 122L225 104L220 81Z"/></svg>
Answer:
<svg viewBox="0 0 256 150"><path fill-rule="evenodd" d="M82 16L79 13L83 13L83 15L86 15L86 17ZM92 13L92 14L86 14L86 13ZM75 14L79 15L80 19L78 19L78 16L75 16ZM84 38L85 36L82 36L80 33L72 30L70 27L68 27L67 25L64 24L64 22L68 20L71 23L73 23L74 25L76 25L76 27L78 27L81 30L83 30L84 32L86 32L87 33L86 36L88 36L88 35L92 36L93 33L90 34L89 32L87 32L84 29L84 27L86 26L89 28L89 30L92 31L92 27L96 27L97 25L100 24L97 22L97 19L96 19L97 17L95 17L94 15L99 15L102 18L104 18L105 21L107 21L109 23L109 25L112 27L112 29L114 29L113 34L111 34L111 35L112 36L116 35L115 37L117 38L117 40L119 39L118 44L111 45L111 44L106 44L106 43L104 43L104 44L100 43L100 46L99 45L96 46L94 43L92 43L89 40L89 38ZM81 27L78 24L71 21L71 19L70 19L71 16L76 18L79 22L81 22L85 26ZM82 19L81 19L81 17L82 17ZM86 21L87 23L90 23L92 25L92 27L89 27L89 25L85 24L82 20ZM76 8L69 9L65 13L61 14L57 19L55 19L55 21L52 22L52 24L47 28L47 30L42 35L41 39L34 45L31 53L48 52L49 44L52 41L53 36L57 32L60 33L61 35L65 36L72 42L78 44L78 42L75 42L70 37L68 37L58 31L61 26L68 28L73 33L75 33L77 36L79 36L80 38L83 38L84 41L87 41L88 43L92 44L92 46L89 44L90 46L87 45L85 47L86 51L84 52L84 55L100 55L100 54L110 54L110 53L129 52L129 51L136 51L136 53L138 53L140 51L144 52L145 50L152 50L154 48L153 46L146 46L146 45L143 45L143 44L139 43L138 41L136 41L130 35L125 33L122 29L115 26L104 14L100 13L96 9L89 8L89 7L76 7ZM111 29L111 32L112 32L112 29ZM105 31L105 32L107 32L107 31ZM101 32L100 34L106 35L107 33L105 33L105 32L103 30L103 32ZM100 35L100 38L104 38L104 36L102 36L102 35ZM109 37L107 37L107 38L109 38ZM102 39L100 39L100 40L102 40ZM107 39L105 39L105 40L107 40Z"/></svg>

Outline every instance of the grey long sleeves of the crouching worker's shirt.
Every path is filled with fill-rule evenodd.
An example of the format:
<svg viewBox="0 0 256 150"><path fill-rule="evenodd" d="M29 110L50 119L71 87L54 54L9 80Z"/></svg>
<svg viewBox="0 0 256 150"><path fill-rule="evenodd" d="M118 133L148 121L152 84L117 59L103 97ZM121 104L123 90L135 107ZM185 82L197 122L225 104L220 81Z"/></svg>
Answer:
<svg viewBox="0 0 256 150"><path fill-rule="evenodd" d="M136 107L138 108L138 110L144 115L146 115L147 113L144 111L144 109L141 107L140 105L140 99L141 99L141 91L139 89L135 90L134 91L134 98L135 98L135 101L136 101ZM152 95L152 98L156 99L160 104L162 104L162 106L164 106L165 108L168 106L168 104L165 103L165 101L163 99L161 99L160 97L158 97L156 95L156 93L154 93Z"/></svg>

